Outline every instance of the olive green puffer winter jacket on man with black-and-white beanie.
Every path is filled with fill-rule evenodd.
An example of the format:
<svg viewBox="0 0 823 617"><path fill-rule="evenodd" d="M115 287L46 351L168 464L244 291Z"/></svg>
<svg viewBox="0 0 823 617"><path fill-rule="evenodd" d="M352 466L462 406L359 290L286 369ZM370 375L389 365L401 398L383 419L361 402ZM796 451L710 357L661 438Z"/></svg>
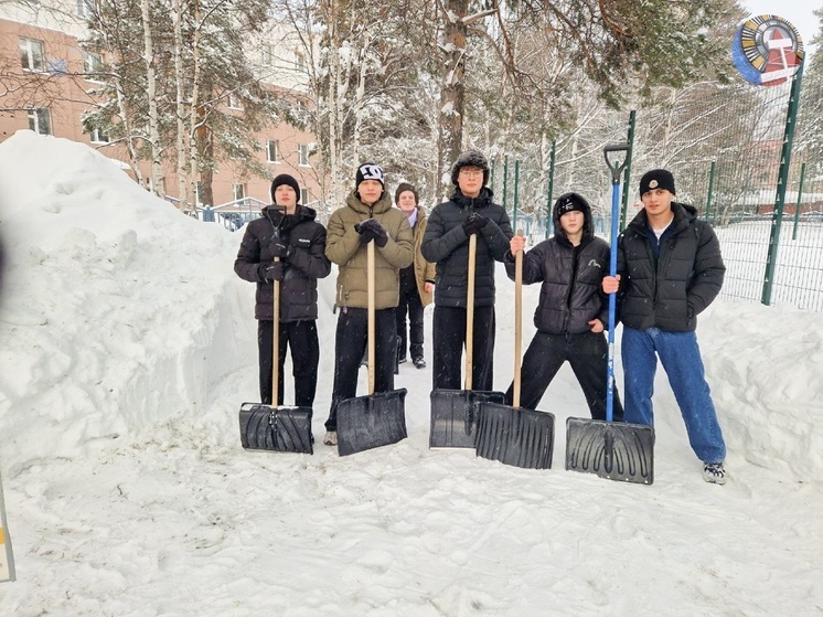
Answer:
<svg viewBox="0 0 823 617"><path fill-rule="evenodd" d="M354 225L366 219L376 220L388 233L385 246L375 246L375 309L394 308L399 302L399 270L414 259L415 243L408 219L392 208L384 192L372 206L367 206L352 191L345 205L329 219L325 236L325 256L338 265L339 307L368 308L366 245L360 243Z"/></svg>

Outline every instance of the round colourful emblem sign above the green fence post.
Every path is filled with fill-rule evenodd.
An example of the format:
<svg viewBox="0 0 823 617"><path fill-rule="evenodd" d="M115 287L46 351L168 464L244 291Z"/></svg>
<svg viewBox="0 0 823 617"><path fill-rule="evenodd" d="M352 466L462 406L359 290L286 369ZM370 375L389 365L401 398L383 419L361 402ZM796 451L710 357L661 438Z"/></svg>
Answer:
<svg viewBox="0 0 823 617"><path fill-rule="evenodd" d="M731 57L750 84L777 86L791 79L803 62L803 39L788 20L756 15L735 33Z"/></svg>

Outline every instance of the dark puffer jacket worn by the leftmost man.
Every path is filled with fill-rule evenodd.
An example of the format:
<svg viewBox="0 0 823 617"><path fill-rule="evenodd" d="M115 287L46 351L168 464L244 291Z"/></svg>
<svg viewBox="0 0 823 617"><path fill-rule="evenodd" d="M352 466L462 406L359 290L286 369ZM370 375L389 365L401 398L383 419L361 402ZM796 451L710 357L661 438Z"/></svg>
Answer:
<svg viewBox="0 0 823 617"><path fill-rule="evenodd" d="M329 276L331 264L325 258L325 228L314 221L317 213L298 205L295 214L282 216L279 235L289 246L286 276L280 281L280 321L318 318L318 278ZM274 285L260 277L260 264L274 262L272 245L278 234L278 212L264 208L261 216L246 226L234 262L234 272L257 284L255 318L274 318Z"/></svg>

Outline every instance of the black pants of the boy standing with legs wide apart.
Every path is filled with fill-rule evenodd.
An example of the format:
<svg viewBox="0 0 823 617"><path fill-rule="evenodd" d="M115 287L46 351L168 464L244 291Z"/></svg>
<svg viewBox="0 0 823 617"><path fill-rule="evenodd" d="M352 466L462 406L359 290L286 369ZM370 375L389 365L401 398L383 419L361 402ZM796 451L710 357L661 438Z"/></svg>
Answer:
<svg viewBox="0 0 823 617"><path fill-rule="evenodd" d="M520 406L535 409L563 363L568 360L580 383L594 419L606 419L606 389L609 343L606 336L595 332L580 334L547 334L537 332L528 344L521 368ZM509 386L506 403L512 404L514 384ZM623 421L623 407L614 386L612 419ZM548 409L547 409L548 411Z"/></svg>

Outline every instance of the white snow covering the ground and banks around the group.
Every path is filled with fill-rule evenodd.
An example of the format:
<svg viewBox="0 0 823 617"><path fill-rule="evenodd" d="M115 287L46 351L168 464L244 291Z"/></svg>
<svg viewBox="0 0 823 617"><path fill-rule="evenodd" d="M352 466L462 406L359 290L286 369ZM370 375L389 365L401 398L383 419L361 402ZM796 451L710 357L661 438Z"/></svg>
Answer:
<svg viewBox="0 0 823 617"><path fill-rule="evenodd" d="M564 470L565 419L587 413L567 366L542 403L557 418L551 470L429 450L431 374L410 364L396 380L408 439L343 458L319 443L248 453L237 411L258 396L256 323L254 286L232 269L238 233L29 131L0 145L0 209L18 576L0 615L823 615L823 313L717 301L701 317L725 487L701 478L662 370L650 487ZM502 269L498 283L503 390L513 284ZM536 300L527 287L524 345Z"/></svg>

